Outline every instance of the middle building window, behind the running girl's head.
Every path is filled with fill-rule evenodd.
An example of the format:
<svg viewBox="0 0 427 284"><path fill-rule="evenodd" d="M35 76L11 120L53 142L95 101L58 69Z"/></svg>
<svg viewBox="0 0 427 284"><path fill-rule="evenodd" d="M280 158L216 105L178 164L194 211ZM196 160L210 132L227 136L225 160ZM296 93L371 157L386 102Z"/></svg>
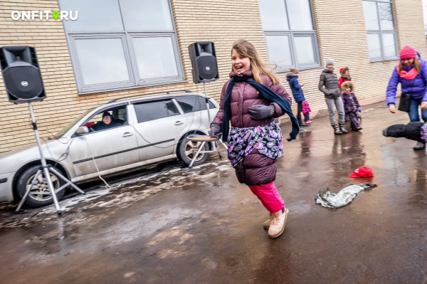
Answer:
<svg viewBox="0 0 427 284"><path fill-rule="evenodd" d="M268 61L279 70L318 67L310 0L259 0Z"/></svg>

